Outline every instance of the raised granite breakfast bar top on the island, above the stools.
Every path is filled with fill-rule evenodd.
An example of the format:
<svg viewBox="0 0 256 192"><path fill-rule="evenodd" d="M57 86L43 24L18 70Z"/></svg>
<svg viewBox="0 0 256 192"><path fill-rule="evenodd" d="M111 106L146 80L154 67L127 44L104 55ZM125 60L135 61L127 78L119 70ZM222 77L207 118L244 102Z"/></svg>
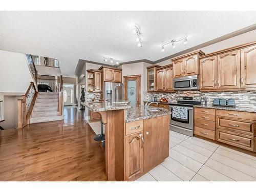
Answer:
<svg viewBox="0 0 256 192"><path fill-rule="evenodd" d="M92 101L92 102L81 102L81 104L86 106L89 110L93 112L126 110L131 108L131 106L127 102Z"/></svg>

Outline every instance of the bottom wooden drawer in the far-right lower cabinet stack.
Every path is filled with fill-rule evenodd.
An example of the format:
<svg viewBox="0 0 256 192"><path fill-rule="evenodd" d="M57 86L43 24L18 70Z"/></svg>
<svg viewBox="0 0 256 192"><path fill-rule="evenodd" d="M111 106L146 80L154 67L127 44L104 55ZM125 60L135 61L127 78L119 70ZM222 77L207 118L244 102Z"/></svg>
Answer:
<svg viewBox="0 0 256 192"><path fill-rule="evenodd" d="M216 140L245 150L255 151L255 137L253 136L216 129Z"/></svg>

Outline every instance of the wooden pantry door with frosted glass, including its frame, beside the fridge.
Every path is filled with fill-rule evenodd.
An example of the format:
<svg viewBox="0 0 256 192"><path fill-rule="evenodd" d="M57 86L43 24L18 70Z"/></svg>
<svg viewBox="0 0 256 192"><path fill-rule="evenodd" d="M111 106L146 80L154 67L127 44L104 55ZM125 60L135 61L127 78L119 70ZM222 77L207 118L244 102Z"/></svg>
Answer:
<svg viewBox="0 0 256 192"><path fill-rule="evenodd" d="M131 106L140 105L140 78L141 75L124 76L124 100Z"/></svg>

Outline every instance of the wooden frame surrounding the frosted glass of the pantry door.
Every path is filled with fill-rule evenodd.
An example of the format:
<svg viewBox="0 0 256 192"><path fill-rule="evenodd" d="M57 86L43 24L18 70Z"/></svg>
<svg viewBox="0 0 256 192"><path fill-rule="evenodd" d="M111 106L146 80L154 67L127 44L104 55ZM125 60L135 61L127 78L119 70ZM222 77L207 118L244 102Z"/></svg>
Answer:
<svg viewBox="0 0 256 192"><path fill-rule="evenodd" d="M127 75L123 76L123 94L124 100L127 101L127 81L128 80L137 80L136 81L136 106L140 105L140 89L141 89L141 75Z"/></svg>

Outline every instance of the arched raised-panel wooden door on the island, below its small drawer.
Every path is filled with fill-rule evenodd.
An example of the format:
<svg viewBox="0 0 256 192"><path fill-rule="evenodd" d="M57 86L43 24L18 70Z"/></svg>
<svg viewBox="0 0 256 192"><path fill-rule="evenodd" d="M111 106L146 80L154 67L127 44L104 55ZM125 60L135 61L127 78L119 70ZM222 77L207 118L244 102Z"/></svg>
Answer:
<svg viewBox="0 0 256 192"><path fill-rule="evenodd" d="M143 132L125 136L125 181L134 181L143 174Z"/></svg>

